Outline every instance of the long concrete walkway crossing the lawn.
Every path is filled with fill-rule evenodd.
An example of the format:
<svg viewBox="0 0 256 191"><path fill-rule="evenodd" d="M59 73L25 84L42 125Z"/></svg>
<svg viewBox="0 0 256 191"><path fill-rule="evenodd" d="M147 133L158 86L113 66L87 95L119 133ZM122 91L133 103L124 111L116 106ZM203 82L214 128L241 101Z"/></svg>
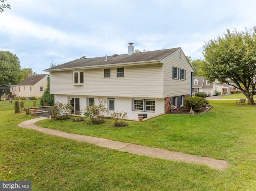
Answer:
<svg viewBox="0 0 256 191"><path fill-rule="evenodd" d="M132 154L150 156L150 157L167 159L172 161L184 161L188 163L205 164L211 168L218 169L218 170L224 170L226 167L229 166L229 163L223 160L217 160L217 159L208 158L208 157L200 157L200 156L190 155L190 154L183 154L180 152L171 152L163 149L140 146L132 143L113 141L113 140L108 140L104 138L66 133L59 130L43 128L35 125L35 122L43 119L46 119L46 118L45 117L34 118L28 121L24 121L18 124L18 126L23 128L34 129L36 131L39 131L45 134L60 136L60 137L64 137L67 139L72 139L80 142L88 142L90 144L94 144L97 146L106 147L110 149L116 149L119 151L130 152Z"/></svg>

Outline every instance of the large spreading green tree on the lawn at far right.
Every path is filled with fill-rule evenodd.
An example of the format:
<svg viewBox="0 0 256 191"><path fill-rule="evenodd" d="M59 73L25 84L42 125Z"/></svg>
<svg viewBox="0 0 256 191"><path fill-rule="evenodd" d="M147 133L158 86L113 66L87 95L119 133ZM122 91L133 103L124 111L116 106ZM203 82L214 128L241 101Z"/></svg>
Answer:
<svg viewBox="0 0 256 191"><path fill-rule="evenodd" d="M203 46L205 63L204 77L208 81L218 80L230 84L233 81L247 97L248 104L254 104L256 94L256 27L253 30L224 33ZM252 89L250 91L250 89Z"/></svg>

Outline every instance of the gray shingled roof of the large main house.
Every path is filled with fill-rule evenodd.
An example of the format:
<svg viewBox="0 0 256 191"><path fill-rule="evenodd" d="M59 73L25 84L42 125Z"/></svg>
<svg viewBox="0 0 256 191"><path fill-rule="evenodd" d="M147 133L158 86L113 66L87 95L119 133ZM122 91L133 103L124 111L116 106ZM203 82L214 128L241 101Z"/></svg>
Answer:
<svg viewBox="0 0 256 191"><path fill-rule="evenodd" d="M174 53L174 51L178 49L180 48L139 52L139 53L134 53L132 55L128 55L128 54L122 54L117 56L112 55L112 56L108 56L107 61L105 61L106 60L105 56L96 57L96 58L76 59L74 61L70 61L62 65L48 68L44 71L54 71L54 70L71 69L71 68L73 69L73 68L82 68L82 67L94 67L94 66L112 65L112 64L138 63L143 61L160 61L161 59L164 59L166 56Z"/></svg>

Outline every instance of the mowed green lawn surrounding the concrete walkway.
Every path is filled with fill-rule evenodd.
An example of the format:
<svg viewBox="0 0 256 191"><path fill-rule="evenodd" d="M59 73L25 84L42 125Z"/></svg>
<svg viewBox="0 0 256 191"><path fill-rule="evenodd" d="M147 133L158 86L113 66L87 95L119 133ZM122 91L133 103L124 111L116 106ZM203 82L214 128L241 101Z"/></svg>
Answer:
<svg viewBox="0 0 256 191"><path fill-rule="evenodd" d="M225 171L101 148L17 125L32 117L2 110L0 180L32 181L32 190L255 190L256 106L210 100L201 115L164 115L145 122L43 120L38 125L122 142L196 154L230 163ZM26 103L25 103L26 106Z"/></svg>

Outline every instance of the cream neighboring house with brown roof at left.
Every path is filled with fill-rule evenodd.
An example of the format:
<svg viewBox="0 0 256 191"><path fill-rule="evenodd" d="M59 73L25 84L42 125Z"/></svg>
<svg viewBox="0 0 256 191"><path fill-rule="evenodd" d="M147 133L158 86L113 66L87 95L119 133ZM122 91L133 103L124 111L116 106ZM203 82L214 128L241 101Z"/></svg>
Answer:
<svg viewBox="0 0 256 191"><path fill-rule="evenodd" d="M16 85L15 95L19 97L27 97L30 99L32 96L39 98L43 95L47 87L47 77L49 74L30 75L23 81ZM12 90L13 87L11 87Z"/></svg>

